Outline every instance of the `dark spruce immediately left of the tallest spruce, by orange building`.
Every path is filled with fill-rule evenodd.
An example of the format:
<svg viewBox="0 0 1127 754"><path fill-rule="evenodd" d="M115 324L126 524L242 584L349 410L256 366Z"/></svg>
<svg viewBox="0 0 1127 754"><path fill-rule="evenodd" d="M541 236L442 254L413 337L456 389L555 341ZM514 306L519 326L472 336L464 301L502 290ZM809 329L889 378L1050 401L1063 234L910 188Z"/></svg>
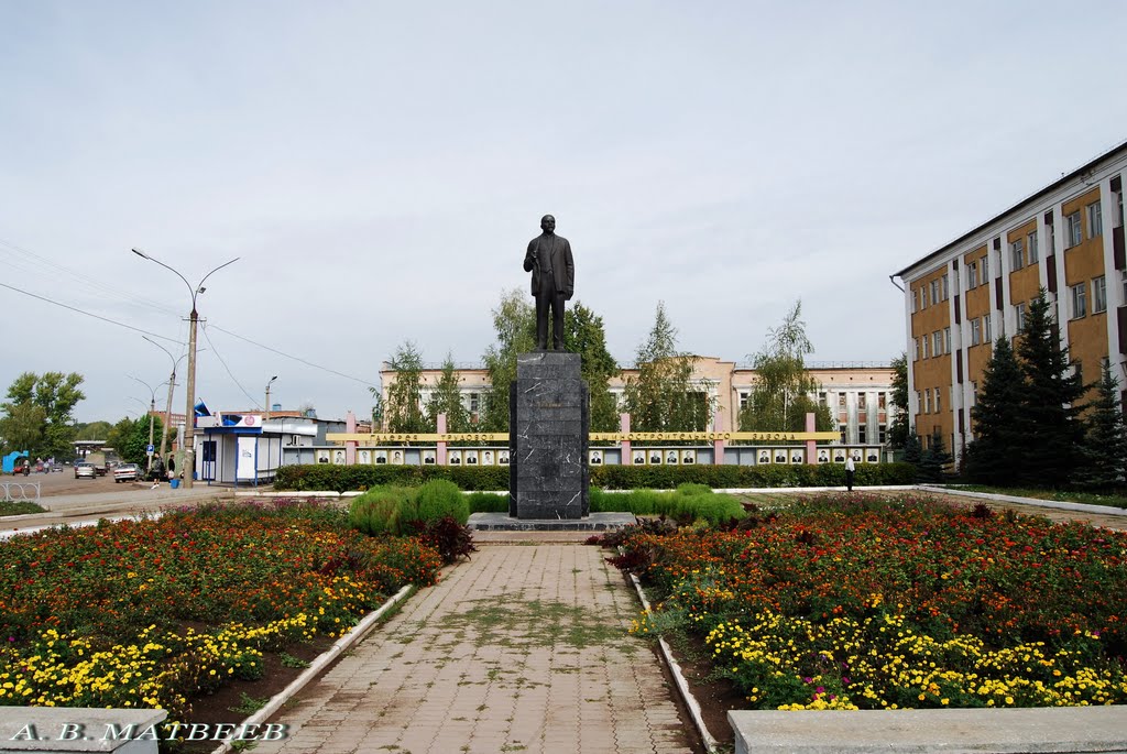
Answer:
<svg viewBox="0 0 1127 754"><path fill-rule="evenodd" d="M962 471L970 481L1013 482L1015 471L1024 463L1022 415L1027 390L1021 365L1003 335L994 343L970 409L975 438L967 446L962 462Z"/></svg>

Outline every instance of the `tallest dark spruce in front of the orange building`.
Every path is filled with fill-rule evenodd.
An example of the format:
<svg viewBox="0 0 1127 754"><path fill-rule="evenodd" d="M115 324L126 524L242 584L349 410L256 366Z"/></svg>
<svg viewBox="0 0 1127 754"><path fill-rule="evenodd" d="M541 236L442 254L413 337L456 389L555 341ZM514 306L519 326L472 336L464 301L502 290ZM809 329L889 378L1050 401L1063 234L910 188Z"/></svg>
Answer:
<svg viewBox="0 0 1127 754"><path fill-rule="evenodd" d="M1085 392L1079 372L1061 347L1056 323L1041 289L1029 302L1026 329L1017 347L1026 376L1020 481L1038 487L1067 485L1081 462L1084 441L1080 399Z"/></svg>

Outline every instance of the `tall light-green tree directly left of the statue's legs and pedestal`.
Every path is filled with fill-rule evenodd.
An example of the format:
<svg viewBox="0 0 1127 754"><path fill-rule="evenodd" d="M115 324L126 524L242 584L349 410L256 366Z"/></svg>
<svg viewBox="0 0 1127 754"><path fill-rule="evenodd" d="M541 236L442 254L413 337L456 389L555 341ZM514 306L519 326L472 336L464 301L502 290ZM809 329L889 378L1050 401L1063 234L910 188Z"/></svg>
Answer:
<svg viewBox="0 0 1127 754"><path fill-rule="evenodd" d="M482 361L489 373L489 389L482 396L482 432L508 431L508 387L516 380L516 356L536 348L536 309L518 289L502 294L492 311L497 341L486 349Z"/></svg>

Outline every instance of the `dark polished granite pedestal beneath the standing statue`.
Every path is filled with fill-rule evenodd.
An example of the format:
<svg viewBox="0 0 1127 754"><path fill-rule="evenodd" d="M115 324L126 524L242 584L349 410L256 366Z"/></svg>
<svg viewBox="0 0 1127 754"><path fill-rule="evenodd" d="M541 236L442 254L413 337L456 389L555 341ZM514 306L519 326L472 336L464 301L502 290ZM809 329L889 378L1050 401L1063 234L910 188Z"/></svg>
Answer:
<svg viewBox="0 0 1127 754"><path fill-rule="evenodd" d="M578 354L538 351L516 357L509 392L509 516L587 516L588 402Z"/></svg>

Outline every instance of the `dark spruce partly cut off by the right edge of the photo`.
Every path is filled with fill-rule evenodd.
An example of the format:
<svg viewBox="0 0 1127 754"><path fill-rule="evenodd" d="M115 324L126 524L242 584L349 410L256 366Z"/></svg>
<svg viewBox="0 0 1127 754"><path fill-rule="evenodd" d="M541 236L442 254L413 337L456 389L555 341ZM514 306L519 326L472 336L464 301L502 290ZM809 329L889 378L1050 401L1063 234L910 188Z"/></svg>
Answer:
<svg viewBox="0 0 1127 754"><path fill-rule="evenodd" d="M1085 406L1088 433L1081 450L1083 462L1076 484L1091 489L1110 489L1127 479L1127 426L1118 399L1119 383L1103 364L1095 396Z"/></svg>

